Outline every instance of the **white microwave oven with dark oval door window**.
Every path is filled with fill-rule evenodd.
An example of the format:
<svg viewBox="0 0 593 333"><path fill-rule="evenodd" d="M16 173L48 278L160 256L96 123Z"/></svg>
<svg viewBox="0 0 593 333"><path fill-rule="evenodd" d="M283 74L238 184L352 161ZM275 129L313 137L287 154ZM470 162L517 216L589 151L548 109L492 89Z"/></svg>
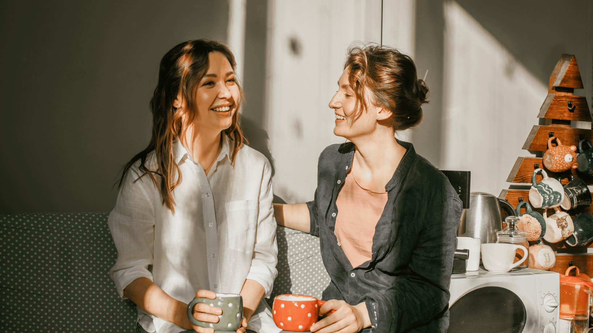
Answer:
<svg viewBox="0 0 593 333"><path fill-rule="evenodd" d="M556 333L560 274L524 268L452 274L448 333Z"/></svg>

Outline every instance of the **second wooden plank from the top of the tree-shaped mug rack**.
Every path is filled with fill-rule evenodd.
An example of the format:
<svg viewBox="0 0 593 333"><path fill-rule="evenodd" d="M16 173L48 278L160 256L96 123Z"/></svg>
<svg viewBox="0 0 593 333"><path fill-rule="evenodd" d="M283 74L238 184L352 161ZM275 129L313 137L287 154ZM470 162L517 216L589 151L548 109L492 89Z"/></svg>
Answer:
<svg viewBox="0 0 593 333"><path fill-rule="evenodd" d="M572 111L568 108L569 103L572 103ZM541 104L540 114L537 117L591 121L591 113L589 113L589 104L586 97L575 95L548 94L544 104ZM564 143L563 140L562 143Z"/></svg>

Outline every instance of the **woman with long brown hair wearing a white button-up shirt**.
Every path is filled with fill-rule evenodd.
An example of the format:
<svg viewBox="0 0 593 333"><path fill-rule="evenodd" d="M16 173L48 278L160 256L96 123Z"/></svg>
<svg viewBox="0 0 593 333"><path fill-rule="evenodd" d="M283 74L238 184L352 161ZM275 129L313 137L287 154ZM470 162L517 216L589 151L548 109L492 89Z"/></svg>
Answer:
<svg viewBox="0 0 593 333"><path fill-rule="evenodd" d="M242 102L224 44L186 41L162 57L151 140L124 168L109 215L117 248L110 276L138 306L138 332L213 332L190 324L186 308L215 293L243 296L237 332L279 331L263 300L277 274L272 174L244 145ZM193 308L203 322L221 313Z"/></svg>

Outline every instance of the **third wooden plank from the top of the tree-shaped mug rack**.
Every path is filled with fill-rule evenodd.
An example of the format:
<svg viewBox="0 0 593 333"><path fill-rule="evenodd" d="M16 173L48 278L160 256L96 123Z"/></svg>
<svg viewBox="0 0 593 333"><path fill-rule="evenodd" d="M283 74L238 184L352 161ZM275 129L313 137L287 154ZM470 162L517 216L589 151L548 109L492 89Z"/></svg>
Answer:
<svg viewBox="0 0 593 333"><path fill-rule="evenodd" d="M523 144L523 149L527 149L528 151L547 151L550 132L554 132L554 136L558 137L560 142L566 146L578 146L580 135L589 141L593 141L593 130L563 126L535 125L531 128L531 132Z"/></svg>

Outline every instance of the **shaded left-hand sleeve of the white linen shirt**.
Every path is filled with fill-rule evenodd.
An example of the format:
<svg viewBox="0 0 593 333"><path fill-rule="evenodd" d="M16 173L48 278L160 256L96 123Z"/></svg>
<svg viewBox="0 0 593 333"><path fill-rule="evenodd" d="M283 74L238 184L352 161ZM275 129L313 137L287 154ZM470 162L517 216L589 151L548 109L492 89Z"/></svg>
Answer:
<svg viewBox="0 0 593 333"><path fill-rule="evenodd" d="M117 249L117 260L109 276L122 299L123 290L136 278L152 280L148 270L154 257L154 207L138 172L129 169L107 222Z"/></svg>

